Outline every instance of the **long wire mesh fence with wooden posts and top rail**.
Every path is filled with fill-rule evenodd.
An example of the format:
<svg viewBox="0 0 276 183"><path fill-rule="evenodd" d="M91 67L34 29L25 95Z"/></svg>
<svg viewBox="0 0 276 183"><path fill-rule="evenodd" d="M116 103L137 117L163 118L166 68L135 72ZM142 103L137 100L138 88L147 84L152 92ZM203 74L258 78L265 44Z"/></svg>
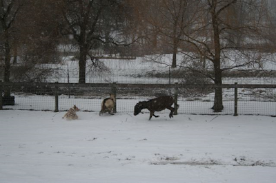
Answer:
<svg viewBox="0 0 276 183"><path fill-rule="evenodd" d="M221 85L221 112L212 109L216 85L0 83L0 87L2 94L9 90L14 96L14 105L7 105L5 96L0 98L3 109L67 111L77 105L81 111L99 112L103 99L115 93L118 113L132 114L139 101L172 96L179 105L178 114L210 115L235 114L237 88L237 114L276 115L275 85Z"/></svg>

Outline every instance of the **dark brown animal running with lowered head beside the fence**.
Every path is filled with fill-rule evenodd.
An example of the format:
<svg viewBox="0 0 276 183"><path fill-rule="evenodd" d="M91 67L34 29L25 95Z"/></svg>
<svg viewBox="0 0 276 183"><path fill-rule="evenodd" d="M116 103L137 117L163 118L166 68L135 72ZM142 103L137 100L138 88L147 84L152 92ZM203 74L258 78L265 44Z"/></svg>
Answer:
<svg viewBox="0 0 276 183"><path fill-rule="evenodd" d="M142 109L148 109L150 111L150 119L151 119L152 116L155 116L155 111L162 111L164 109L169 109L170 110L169 116L170 118L173 118L172 114L175 111L175 108L171 106L173 103L175 103L175 100L171 96L160 96L148 101L139 102L134 107L134 116L139 114ZM177 105L177 108L178 108L178 105ZM158 118L158 117L159 116L155 116L155 118Z"/></svg>

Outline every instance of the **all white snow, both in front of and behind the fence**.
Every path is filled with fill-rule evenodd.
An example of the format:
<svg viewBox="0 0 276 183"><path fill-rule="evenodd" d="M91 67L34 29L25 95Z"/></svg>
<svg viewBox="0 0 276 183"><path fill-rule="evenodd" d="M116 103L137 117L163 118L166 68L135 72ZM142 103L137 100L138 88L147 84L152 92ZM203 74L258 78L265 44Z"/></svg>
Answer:
<svg viewBox="0 0 276 183"><path fill-rule="evenodd" d="M170 55L161 58L170 60ZM169 72L166 64L142 58L103 62L110 73L96 76L88 70L88 83L175 83L145 76L149 70ZM78 81L73 58L45 67L58 69L49 81L67 83L68 74L70 83ZM275 70L274 63L264 67ZM274 78L224 78L224 83L236 81L275 83ZM273 89L239 89L238 114L273 114L273 94ZM102 98L61 95L59 110L75 104L82 109L79 120L63 120L66 111L16 110L54 110L54 96L14 94L16 105L4 107L14 110L0 111L0 182L275 182L276 118L232 116L230 90L224 91L219 113L230 115L214 114L213 95L179 98L179 115L170 119L166 110L149 121L148 113L132 114L137 102L150 99L146 96L121 98L119 113L99 116Z"/></svg>

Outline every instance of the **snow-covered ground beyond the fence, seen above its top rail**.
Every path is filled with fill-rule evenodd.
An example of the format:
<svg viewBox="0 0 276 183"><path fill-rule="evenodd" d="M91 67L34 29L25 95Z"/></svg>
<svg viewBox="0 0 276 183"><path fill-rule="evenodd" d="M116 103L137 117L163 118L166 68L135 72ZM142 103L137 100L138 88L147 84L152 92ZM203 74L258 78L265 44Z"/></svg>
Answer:
<svg viewBox="0 0 276 183"><path fill-rule="evenodd" d="M183 54L177 54L177 64L181 65L182 61L186 61ZM233 59L237 56L233 56ZM275 71L275 56L271 56L265 63L263 68L255 67L239 67L239 69L259 69L263 72ZM242 59L242 58L239 58ZM165 55L151 55L145 57L137 57L136 59L99 59L103 65L110 69L108 72L95 72L95 69L91 68L91 61L86 63L86 83L181 83L182 79L177 78L157 78L149 76L149 73L163 73L169 74L179 67L173 69L170 67L172 61L172 54ZM150 60L150 61L148 61ZM154 60L155 62L152 62ZM235 60L235 59L234 59ZM190 59L188 59L190 61ZM208 62L207 62L208 63ZM188 64L188 63L187 63ZM233 66L233 63L221 63L222 67ZM208 68L212 67L212 64L208 63ZM230 66L229 66L230 65ZM57 72L52 74L52 77L47 81L50 83L78 83L79 82L79 62L75 56L67 56L62 58L62 62L59 64L45 64L41 67L50 67L56 69ZM273 77L257 77L257 78L223 78L224 84L275 84L275 78Z"/></svg>

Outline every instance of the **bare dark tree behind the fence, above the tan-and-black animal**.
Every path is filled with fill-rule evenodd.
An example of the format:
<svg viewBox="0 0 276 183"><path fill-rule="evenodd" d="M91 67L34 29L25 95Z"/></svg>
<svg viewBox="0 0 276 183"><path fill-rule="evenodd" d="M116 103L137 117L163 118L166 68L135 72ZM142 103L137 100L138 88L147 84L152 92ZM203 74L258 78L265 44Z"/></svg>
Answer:
<svg viewBox="0 0 276 183"><path fill-rule="evenodd" d="M63 0L61 32L72 35L79 46L79 83L86 83L86 60L93 59L90 50L105 43L119 44L115 25L120 5L119 0Z"/></svg>

